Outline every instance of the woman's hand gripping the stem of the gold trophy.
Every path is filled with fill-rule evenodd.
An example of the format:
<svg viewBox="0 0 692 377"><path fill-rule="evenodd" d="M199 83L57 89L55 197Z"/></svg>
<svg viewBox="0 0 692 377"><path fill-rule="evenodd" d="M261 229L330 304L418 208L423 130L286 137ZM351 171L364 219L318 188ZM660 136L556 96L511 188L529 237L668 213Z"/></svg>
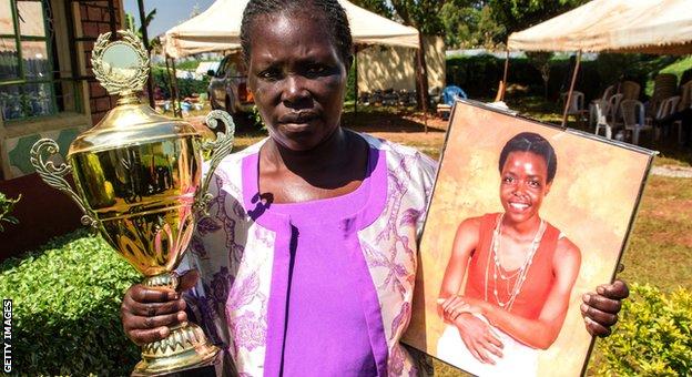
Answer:
<svg viewBox="0 0 692 377"><path fill-rule="evenodd" d="M193 287L200 275L192 269L180 276L179 291ZM187 320L185 300L175 291L153 289L135 284L125 292L120 306L125 335L139 346L165 338L170 326Z"/></svg>

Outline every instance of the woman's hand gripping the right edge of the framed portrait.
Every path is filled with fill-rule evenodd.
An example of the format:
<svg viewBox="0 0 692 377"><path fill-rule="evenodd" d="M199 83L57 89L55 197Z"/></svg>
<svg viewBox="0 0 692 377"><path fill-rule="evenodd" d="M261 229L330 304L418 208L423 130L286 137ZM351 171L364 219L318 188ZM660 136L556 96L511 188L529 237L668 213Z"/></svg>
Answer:
<svg viewBox="0 0 692 377"><path fill-rule="evenodd" d="M589 334L600 337L610 335L611 326L618 322L622 299L629 295L627 283L620 279L599 285L596 292L584 294L581 315Z"/></svg>

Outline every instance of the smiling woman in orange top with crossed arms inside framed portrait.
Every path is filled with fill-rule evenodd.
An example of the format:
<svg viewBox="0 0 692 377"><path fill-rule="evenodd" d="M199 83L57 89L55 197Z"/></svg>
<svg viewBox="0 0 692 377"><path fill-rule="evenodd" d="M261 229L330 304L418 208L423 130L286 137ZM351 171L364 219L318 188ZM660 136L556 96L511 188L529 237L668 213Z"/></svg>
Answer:
<svg viewBox="0 0 692 377"><path fill-rule="evenodd" d="M539 134L513 136L498 166L505 212L459 224L440 289L440 313L450 324L438 342L446 361L481 376L535 376L536 349L558 337L581 253L540 217L557 164Z"/></svg>

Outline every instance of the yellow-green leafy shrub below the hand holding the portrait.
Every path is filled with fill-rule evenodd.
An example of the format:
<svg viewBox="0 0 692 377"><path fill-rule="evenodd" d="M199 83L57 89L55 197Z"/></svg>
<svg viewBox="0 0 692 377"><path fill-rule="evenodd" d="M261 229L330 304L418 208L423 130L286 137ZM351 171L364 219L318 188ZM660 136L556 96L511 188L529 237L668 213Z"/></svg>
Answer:
<svg viewBox="0 0 692 377"><path fill-rule="evenodd" d="M603 339L607 376L690 376L692 374L692 293L664 295L650 285L632 284L621 320Z"/></svg>

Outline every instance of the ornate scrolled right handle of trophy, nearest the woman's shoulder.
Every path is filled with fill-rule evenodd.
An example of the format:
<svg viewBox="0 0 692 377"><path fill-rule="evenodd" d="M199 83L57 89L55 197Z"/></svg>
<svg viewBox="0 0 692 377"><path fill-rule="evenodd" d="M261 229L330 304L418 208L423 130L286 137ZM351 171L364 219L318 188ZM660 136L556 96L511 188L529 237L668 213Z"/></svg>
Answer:
<svg viewBox="0 0 692 377"><path fill-rule="evenodd" d="M231 115L223 110L211 111L206 114L204 123L206 123L206 126L214 131L216 130L220 120L225 125L225 132L216 132L216 140L205 140L201 145L202 152L208 153L211 157L210 170L206 172L206 175L202 181L202 187L200 187L195 197L195 208L205 215L207 214L208 203L213 197L213 195L207 192L210 182L212 181L214 171L216 170L216 166L218 166L221 160L231 154L231 150L233 149L233 136L235 134L235 123L233 122L233 118L231 118Z"/></svg>

